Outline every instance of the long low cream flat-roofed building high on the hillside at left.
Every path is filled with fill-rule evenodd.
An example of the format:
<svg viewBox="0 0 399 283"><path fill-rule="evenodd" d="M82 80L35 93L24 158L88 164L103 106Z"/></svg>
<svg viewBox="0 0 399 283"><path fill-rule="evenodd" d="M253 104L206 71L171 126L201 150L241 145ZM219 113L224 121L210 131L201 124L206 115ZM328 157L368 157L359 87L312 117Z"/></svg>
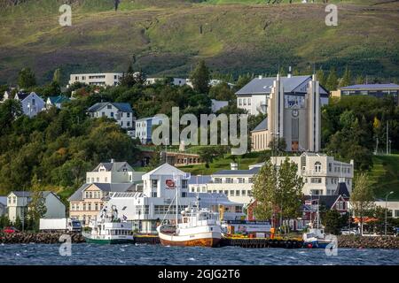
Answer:
<svg viewBox="0 0 399 283"><path fill-rule="evenodd" d="M73 73L70 75L69 85L79 81L94 86L116 86L122 76L123 73Z"/></svg>

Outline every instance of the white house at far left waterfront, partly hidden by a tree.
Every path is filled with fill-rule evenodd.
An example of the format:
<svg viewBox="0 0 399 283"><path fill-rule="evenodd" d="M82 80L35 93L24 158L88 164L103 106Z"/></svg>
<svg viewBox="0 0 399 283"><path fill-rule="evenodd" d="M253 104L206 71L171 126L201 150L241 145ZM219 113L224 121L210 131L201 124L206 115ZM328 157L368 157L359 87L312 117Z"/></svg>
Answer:
<svg viewBox="0 0 399 283"><path fill-rule="evenodd" d="M47 209L43 218L65 218L66 208L59 196L50 192L41 192L44 198L44 205ZM28 205L31 202L32 192L12 191L7 195L8 218L14 222L17 217L20 219L27 216Z"/></svg>

